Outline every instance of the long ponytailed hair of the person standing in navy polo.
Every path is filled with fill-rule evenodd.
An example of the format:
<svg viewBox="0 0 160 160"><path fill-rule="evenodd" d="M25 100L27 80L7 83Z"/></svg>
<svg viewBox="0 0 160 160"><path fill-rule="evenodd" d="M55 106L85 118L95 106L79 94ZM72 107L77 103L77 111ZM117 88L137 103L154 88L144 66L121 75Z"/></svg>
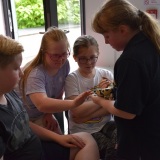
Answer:
<svg viewBox="0 0 160 160"><path fill-rule="evenodd" d="M93 30L100 34L114 30L119 25L128 25L133 30L142 30L160 50L158 21L147 12L138 10L127 0L107 1L96 13L92 22Z"/></svg>

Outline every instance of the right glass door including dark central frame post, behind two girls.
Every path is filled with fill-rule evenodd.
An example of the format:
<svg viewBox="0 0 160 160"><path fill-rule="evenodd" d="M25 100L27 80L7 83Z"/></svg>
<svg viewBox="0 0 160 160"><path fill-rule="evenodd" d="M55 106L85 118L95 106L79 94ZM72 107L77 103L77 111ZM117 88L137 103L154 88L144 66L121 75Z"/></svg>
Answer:
<svg viewBox="0 0 160 160"><path fill-rule="evenodd" d="M45 28L57 26L66 31L72 53L75 39L82 34L82 0L43 0L43 4ZM69 61L71 71L77 69L77 64L74 62L72 54L69 57Z"/></svg>

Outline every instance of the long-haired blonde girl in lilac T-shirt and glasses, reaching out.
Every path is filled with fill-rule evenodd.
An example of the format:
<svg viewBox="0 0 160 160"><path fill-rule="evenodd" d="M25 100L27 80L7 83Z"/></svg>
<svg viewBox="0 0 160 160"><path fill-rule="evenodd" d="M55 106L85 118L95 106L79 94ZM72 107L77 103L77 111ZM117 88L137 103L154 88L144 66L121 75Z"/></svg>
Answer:
<svg viewBox="0 0 160 160"><path fill-rule="evenodd" d="M70 71L69 50L64 31L57 27L48 28L37 56L24 66L20 82L20 95L23 95L30 120L59 134L64 128L62 111L73 107L61 100L64 81ZM61 129L52 113L59 118Z"/></svg>

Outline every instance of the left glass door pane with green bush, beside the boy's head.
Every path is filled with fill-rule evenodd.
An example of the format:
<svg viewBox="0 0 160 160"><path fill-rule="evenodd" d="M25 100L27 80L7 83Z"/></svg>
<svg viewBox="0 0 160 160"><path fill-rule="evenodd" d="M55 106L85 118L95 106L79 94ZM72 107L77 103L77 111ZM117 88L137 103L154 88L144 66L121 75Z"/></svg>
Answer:
<svg viewBox="0 0 160 160"><path fill-rule="evenodd" d="M24 47L22 67L38 53L40 42L45 31L42 0L11 0L14 1L12 11L15 12L14 28L17 30L18 41ZM15 9L14 9L15 8Z"/></svg>

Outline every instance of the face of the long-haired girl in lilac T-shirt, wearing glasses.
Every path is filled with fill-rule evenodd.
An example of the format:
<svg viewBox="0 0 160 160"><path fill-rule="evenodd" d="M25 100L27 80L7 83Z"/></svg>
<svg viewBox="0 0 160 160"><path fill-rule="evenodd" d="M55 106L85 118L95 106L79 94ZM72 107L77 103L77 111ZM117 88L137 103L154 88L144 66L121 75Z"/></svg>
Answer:
<svg viewBox="0 0 160 160"><path fill-rule="evenodd" d="M51 42L45 52L47 67L53 70L60 69L66 62L69 54L65 41Z"/></svg>

